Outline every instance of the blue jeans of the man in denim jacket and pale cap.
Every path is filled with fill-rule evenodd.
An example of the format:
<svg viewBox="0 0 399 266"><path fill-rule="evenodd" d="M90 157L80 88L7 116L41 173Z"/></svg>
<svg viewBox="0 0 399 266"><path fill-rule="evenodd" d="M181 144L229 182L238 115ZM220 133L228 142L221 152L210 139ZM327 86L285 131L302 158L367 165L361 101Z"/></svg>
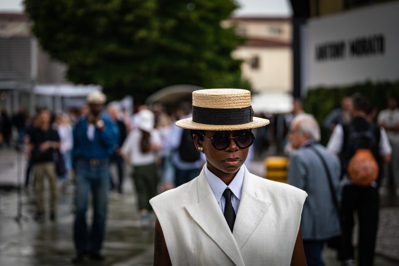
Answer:
<svg viewBox="0 0 399 266"><path fill-rule="evenodd" d="M78 253L99 252L105 236L109 191L109 162L89 163L78 160L75 165L75 222L73 237ZM93 222L91 230L86 224L90 191L93 195Z"/></svg>

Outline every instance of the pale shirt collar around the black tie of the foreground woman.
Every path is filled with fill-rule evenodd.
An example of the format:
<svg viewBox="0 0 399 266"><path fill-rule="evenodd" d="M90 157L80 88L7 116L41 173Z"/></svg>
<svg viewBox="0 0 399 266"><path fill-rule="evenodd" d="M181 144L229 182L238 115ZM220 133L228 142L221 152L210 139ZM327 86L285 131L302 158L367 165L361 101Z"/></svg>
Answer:
<svg viewBox="0 0 399 266"><path fill-rule="evenodd" d="M231 192L233 192L234 196L237 197L238 200L241 200L241 190L242 183L244 181L244 172L245 167L241 166L238 170L237 174L234 176L233 180L231 180L230 184L227 186L221 181L216 175L214 175L208 167L205 165L204 173L205 178L208 181L210 188L212 189L213 195L215 196L217 203L219 203L221 196L223 195L224 190L228 187Z"/></svg>

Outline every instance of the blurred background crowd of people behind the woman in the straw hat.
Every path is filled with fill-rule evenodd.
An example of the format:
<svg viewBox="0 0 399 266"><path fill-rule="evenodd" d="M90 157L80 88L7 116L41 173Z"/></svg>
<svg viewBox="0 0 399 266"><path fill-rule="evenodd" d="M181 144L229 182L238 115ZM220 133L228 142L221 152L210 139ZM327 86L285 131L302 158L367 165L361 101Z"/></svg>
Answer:
<svg viewBox="0 0 399 266"><path fill-rule="evenodd" d="M35 220L45 219L45 178L50 184L52 221L57 214L58 183L61 189L74 184L74 262L87 254L94 260L104 259L100 251L108 193L124 192L127 173L131 173L137 192L141 225L148 227L149 200L192 180L205 163L203 153L194 147L190 131L175 126L177 120L191 116L190 103L171 110L140 105L132 114L118 104L105 103L105 95L96 92L87 97L87 105L67 113L52 114L37 108L35 115L29 117L23 108L12 116L1 111L1 146L13 146L26 154L24 186L34 187ZM308 193L302 234L309 265L323 265L323 245L334 238L341 247L340 260L344 265L354 265L355 212L360 223L359 261L361 265L371 265L368 262L373 262L378 227L378 191L399 195L397 98L390 97L387 109L379 113L364 96L343 98L341 108L333 110L322 125L332 133L326 147L319 143L318 123L304 112L299 100L294 101L290 114L257 116L269 119L271 124L253 130L256 139L245 164L249 168L253 158L263 159L271 147L276 148L274 153L281 150L289 156L287 182ZM370 136L366 141L369 145L362 148L370 149L378 164L375 179L365 186L357 185L348 172L350 160L360 148L354 146L354 137L363 132ZM111 165L117 169L116 176L111 174ZM86 224L90 194L94 208L91 230Z"/></svg>

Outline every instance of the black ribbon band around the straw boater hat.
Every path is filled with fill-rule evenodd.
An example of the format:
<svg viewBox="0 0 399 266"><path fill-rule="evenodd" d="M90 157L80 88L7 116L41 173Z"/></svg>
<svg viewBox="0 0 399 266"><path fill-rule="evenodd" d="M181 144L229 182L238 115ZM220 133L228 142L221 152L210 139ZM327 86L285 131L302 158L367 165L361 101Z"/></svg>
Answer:
<svg viewBox="0 0 399 266"><path fill-rule="evenodd" d="M193 122L206 125L242 125L253 121L252 106L244 108L204 108L193 106Z"/></svg>

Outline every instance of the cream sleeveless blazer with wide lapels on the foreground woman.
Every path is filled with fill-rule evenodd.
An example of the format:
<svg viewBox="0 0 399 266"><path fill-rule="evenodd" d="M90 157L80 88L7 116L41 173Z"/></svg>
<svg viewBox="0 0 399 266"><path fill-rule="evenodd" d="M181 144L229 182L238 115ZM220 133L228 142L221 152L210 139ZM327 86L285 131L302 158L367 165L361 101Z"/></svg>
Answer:
<svg viewBox="0 0 399 266"><path fill-rule="evenodd" d="M303 190L258 177L245 168L233 233L203 169L191 182L150 203L174 266L288 266L306 197Z"/></svg>

